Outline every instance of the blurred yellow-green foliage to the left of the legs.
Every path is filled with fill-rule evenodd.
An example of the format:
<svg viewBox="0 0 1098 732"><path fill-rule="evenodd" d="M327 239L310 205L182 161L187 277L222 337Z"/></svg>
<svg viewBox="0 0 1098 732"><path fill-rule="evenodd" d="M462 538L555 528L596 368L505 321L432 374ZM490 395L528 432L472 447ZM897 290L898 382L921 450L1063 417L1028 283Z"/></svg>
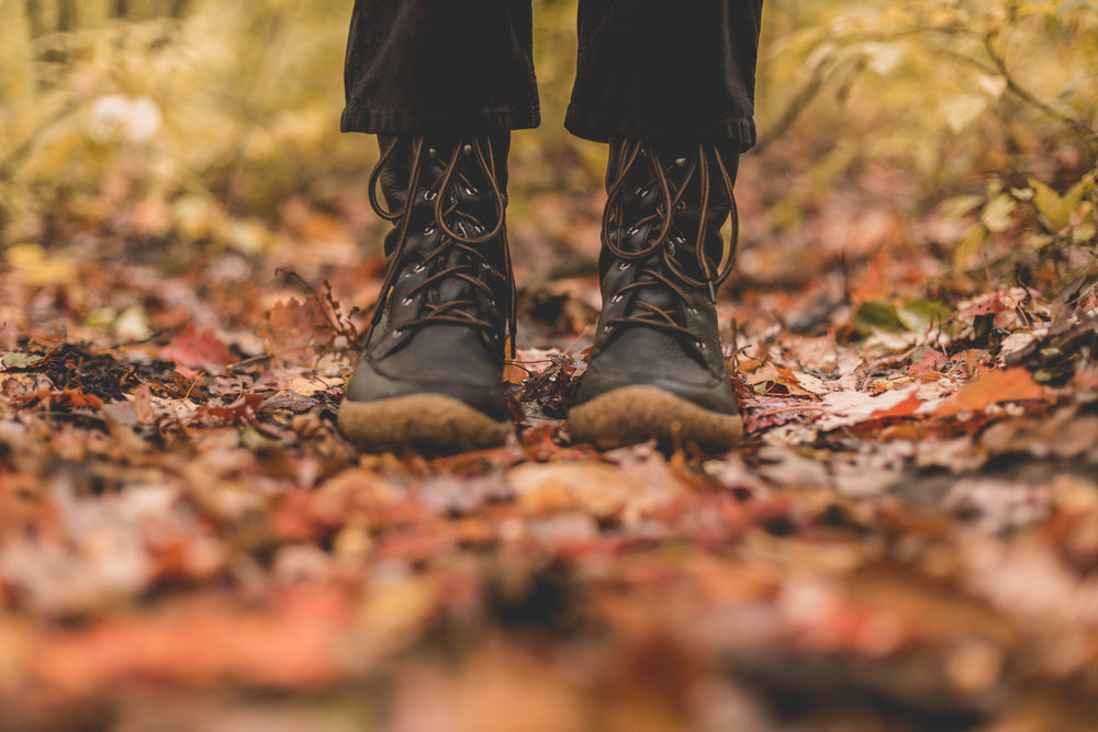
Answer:
<svg viewBox="0 0 1098 732"><path fill-rule="evenodd" d="M10 237L58 204L102 218L141 200L168 204L166 233L227 235L223 206L271 215L369 165L370 146L338 135L345 2L0 0L0 13L14 20L0 30Z"/></svg>

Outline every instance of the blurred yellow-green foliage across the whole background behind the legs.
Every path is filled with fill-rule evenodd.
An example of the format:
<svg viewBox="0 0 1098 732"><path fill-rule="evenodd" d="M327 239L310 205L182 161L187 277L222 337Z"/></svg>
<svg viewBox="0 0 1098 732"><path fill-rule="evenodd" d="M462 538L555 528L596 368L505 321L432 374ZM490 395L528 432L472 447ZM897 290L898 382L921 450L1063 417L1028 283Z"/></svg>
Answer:
<svg viewBox="0 0 1098 732"><path fill-rule="evenodd" d="M535 2L546 124L516 135L529 173L516 203L600 184L600 146L560 127L574 5ZM376 156L338 133L349 12L346 0L0 0L4 239L48 243L58 217L136 211L153 233L247 249L288 196L338 209ZM971 222L961 267L1000 236L1093 250L1096 72L1096 0L766 0L760 151L810 181L771 215L797 225L874 160L907 170L923 207L966 196L949 206Z"/></svg>

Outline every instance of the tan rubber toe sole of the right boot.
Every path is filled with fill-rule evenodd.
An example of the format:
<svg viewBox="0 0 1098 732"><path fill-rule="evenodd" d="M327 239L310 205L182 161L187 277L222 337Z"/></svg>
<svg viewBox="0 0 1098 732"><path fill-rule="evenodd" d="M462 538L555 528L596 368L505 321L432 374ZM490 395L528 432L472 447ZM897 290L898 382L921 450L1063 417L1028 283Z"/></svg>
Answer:
<svg viewBox="0 0 1098 732"><path fill-rule="evenodd" d="M703 409L656 386L623 386L596 396L573 407L568 424L573 441L604 449L654 438L727 450L743 437L739 415Z"/></svg>

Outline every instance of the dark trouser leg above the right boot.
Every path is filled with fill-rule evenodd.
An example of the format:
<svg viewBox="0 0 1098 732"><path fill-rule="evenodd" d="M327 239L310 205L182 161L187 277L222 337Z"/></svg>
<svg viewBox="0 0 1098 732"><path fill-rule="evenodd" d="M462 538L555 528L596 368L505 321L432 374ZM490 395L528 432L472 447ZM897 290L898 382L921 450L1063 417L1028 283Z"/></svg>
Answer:
<svg viewBox="0 0 1098 732"><path fill-rule="evenodd" d="M580 0L564 126L585 139L755 142L762 0Z"/></svg>

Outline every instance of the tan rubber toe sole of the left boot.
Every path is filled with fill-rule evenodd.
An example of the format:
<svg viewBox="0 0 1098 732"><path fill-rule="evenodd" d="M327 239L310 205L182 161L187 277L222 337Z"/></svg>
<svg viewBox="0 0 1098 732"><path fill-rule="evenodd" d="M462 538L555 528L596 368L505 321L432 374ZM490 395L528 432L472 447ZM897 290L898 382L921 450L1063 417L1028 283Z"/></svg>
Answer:
<svg viewBox="0 0 1098 732"><path fill-rule="evenodd" d="M377 402L344 402L339 429L349 440L371 450L410 443L472 450L501 444L514 426L450 396L411 394Z"/></svg>

